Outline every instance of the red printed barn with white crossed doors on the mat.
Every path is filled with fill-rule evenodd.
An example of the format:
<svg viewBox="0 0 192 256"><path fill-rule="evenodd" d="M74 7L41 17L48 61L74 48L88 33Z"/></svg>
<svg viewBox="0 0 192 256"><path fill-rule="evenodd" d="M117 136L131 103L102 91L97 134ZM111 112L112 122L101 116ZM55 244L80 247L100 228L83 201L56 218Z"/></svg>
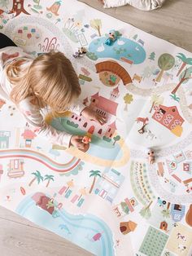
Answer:
<svg viewBox="0 0 192 256"><path fill-rule="evenodd" d="M155 121L158 121L161 125L173 130L176 126L182 126L184 119L180 116L177 107L166 107L159 105L155 107L155 113L152 116Z"/></svg>

